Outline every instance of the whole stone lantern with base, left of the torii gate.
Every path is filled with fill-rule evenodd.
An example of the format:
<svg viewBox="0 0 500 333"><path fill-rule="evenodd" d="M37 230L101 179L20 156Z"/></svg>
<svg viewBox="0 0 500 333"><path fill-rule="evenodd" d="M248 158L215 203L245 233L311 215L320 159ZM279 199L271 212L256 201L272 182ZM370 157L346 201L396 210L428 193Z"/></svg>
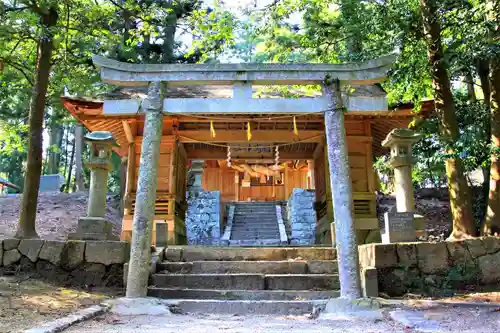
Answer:
<svg viewBox="0 0 500 333"><path fill-rule="evenodd" d="M73 239L114 240L112 224L105 219L108 173L111 170L111 151L116 141L110 132L95 131L85 136L90 145L87 166L90 169L90 190L87 216L78 220Z"/></svg>

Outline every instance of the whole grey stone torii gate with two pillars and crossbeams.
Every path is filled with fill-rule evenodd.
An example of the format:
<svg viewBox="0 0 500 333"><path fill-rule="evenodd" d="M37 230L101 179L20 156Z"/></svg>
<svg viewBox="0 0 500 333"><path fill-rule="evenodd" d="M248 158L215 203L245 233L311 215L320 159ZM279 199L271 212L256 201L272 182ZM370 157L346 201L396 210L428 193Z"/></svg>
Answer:
<svg viewBox="0 0 500 333"><path fill-rule="evenodd" d="M342 86L370 85L382 81L394 55L348 64L129 64L94 56L106 83L122 86L148 85L144 100L106 100L104 114L145 114L136 208L133 218L127 297L147 294L151 261L151 235L156 176L164 113L300 114L324 112L328 162L333 197L341 297L361 296L358 251L353 219L352 185L349 174L345 112L388 111L385 97L348 96ZM229 99L165 99L165 85L232 85ZM252 98L254 85L320 84L317 98ZM343 98L344 97L344 98ZM344 104L344 100L347 102Z"/></svg>

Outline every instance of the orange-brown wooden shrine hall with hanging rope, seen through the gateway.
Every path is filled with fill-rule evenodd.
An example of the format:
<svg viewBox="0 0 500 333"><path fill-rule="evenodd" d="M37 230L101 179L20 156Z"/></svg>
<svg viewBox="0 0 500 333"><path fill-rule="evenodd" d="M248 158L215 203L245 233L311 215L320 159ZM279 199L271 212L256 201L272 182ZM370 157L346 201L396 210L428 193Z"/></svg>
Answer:
<svg viewBox="0 0 500 333"><path fill-rule="evenodd" d="M316 146L311 142L184 144L191 165L203 166L203 191L220 191L224 202L285 201L294 188L314 189ZM219 159L200 160L204 150L207 158L220 154Z"/></svg>

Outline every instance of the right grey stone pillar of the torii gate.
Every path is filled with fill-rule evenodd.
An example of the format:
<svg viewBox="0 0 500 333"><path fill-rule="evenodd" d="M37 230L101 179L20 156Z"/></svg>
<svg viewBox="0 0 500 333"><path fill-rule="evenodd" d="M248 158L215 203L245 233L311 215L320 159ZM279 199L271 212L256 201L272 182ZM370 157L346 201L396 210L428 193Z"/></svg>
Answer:
<svg viewBox="0 0 500 333"><path fill-rule="evenodd" d="M325 83L323 94L329 100L329 110L325 111L325 132L334 207L340 296L356 299L361 297L358 245L340 82L335 80L333 83Z"/></svg>

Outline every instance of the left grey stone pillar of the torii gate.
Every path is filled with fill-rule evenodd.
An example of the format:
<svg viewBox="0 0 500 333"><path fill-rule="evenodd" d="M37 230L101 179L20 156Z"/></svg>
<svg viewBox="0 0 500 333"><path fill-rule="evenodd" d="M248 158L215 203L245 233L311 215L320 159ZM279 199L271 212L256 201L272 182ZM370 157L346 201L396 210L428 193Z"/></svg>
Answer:
<svg viewBox="0 0 500 333"><path fill-rule="evenodd" d="M151 265L151 237L156 201L156 179L160 159L163 124L163 84L151 82L148 96L142 104L146 120L141 148L141 166L137 181L137 195L132 222L132 244L127 276L127 297L146 297L149 266Z"/></svg>

